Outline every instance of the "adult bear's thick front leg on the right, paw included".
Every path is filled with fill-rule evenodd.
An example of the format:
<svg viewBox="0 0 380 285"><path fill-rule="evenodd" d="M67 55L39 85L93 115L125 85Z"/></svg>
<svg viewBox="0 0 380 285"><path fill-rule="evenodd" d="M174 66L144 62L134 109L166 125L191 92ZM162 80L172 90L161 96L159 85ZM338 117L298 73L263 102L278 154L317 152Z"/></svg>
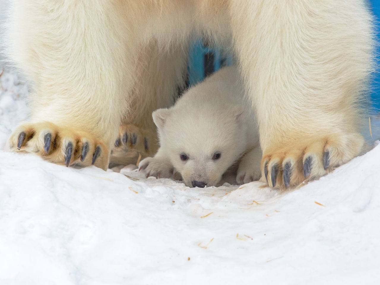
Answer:
<svg viewBox="0 0 380 285"><path fill-rule="evenodd" d="M299 185L361 154L358 103L374 46L364 3L232 0L230 9L259 125L262 179Z"/></svg>

